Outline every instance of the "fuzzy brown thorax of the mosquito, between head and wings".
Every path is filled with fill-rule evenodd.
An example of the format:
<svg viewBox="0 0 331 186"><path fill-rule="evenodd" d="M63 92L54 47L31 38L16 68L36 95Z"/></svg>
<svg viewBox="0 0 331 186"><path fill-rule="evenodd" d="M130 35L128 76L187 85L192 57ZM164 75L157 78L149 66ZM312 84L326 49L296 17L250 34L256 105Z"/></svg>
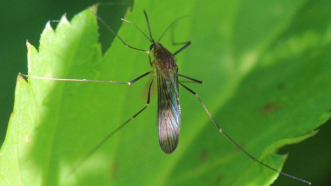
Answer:
<svg viewBox="0 0 331 186"><path fill-rule="evenodd" d="M152 43L150 48L154 54L154 65L163 70L174 70L177 68L176 60L169 50L163 47L161 43Z"/></svg>

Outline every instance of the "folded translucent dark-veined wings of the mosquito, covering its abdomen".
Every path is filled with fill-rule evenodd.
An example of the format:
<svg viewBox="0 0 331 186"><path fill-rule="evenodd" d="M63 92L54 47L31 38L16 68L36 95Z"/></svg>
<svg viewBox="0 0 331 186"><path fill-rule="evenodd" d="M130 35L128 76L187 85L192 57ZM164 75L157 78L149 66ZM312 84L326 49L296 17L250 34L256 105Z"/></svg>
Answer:
<svg viewBox="0 0 331 186"><path fill-rule="evenodd" d="M170 154L176 149L181 126L179 105L178 70L157 70L159 142L163 152Z"/></svg>

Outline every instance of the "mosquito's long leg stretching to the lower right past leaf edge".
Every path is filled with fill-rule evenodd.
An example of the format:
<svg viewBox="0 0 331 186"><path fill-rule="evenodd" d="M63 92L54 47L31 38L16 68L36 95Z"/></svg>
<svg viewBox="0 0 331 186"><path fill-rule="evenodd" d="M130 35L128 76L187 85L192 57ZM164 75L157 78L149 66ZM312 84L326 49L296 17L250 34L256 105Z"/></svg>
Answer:
<svg viewBox="0 0 331 186"><path fill-rule="evenodd" d="M270 167L269 165L266 165L265 163L262 163L261 161L259 161L257 158L254 158L254 156L252 156L251 154L249 154L247 151L245 151L245 149L243 149L243 147L241 147L237 142L235 142L230 136L228 136L228 134L226 134L225 132L223 132L223 130L221 129L221 127L219 126L219 124L217 124L217 122L214 120L214 118L212 117L212 114L210 114L210 112L208 111L207 107L205 107L205 104L201 101L200 97L198 96L197 93L195 93L193 90L190 90L190 88L186 87L185 85L183 85L182 83L179 83L181 86L183 86L186 90L188 90L188 92L191 92L192 94L194 94L194 96L197 97L197 99L199 100L199 102L201 103L201 105L203 106L203 108L205 109L205 112L207 112L208 116L212 119L212 123L214 123L214 125L217 127L217 130L219 130L219 133L223 134L223 136L225 136L225 138L228 138L228 140L233 143L235 146L237 146L239 149L241 149L241 151L243 153L245 153L248 157L250 157L253 161L259 163L260 165L262 165L263 167L267 167L268 169L271 169L274 172L278 172L279 174L283 174L284 176L288 176L290 178L293 178L294 180L299 180L303 183L308 183L309 185L311 185L311 183L307 180L303 180L301 178L297 178L296 176L292 176L290 174L286 174L285 172L281 172L277 169L274 169L272 167Z"/></svg>

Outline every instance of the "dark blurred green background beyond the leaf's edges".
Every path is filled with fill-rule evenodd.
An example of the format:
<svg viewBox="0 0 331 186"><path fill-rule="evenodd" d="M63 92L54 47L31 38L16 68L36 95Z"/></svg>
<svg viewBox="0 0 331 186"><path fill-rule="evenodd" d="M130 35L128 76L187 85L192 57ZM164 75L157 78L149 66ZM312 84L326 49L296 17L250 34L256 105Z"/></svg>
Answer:
<svg viewBox="0 0 331 186"><path fill-rule="evenodd" d="M18 72L27 72L26 40L34 46L39 45L41 31L49 20L58 20L66 13L68 19L74 14L99 1L1 1L1 72L0 72L0 142L6 135L8 119L14 103L14 86ZM107 12L99 12L103 19L107 15L123 17L125 5L132 0L114 1L124 6L110 6ZM330 1L325 1L330 2ZM322 5L321 5L322 6ZM103 9L105 10L105 9ZM330 10L331 11L331 10ZM329 18L331 22L331 17ZM52 23L56 25L57 23ZM114 30L119 28L121 21L113 23ZM261 30L262 32L263 30ZM103 50L108 48L112 34L101 30ZM108 44L107 44L108 43ZM331 62L330 62L331 63ZM320 128L320 132L303 143L289 145L280 150L282 154L289 153L284 172L297 172L295 176L312 181L314 185L330 185L331 183L331 125L330 121ZM298 170L302 170L300 173ZM295 180L280 176L274 185L303 185Z"/></svg>

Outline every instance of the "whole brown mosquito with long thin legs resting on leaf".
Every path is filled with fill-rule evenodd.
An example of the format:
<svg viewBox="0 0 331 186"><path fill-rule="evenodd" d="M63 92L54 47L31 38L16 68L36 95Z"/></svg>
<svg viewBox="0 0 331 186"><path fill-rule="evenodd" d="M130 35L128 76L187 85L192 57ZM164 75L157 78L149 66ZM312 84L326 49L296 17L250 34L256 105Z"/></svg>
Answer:
<svg viewBox="0 0 331 186"><path fill-rule="evenodd" d="M226 134L222 130L220 125L212 117L212 114L210 114L208 108L201 101L199 95L196 92L194 92L193 90L191 90L189 87L183 85L183 83L179 82L178 77L181 76L184 79L187 79L188 81L190 81L192 83L203 84L203 81L199 81L199 80L193 79L189 76L179 74L178 66L176 64L175 56L177 54L179 54L180 52L182 52L183 50L185 50L185 48L188 48L188 46L190 46L193 43L193 41L187 41L187 42L183 42L183 43L174 43L173 42L173 44L182 45L182 47L179 48L179 50L177 50L176 52L173 52L173 53L170 52L169 50L167 50L165 47L163 47L163 45L160 43L164 34L172 27L172 25L174 25L174 23L177 23L177 21L179 21L179 19L182 19L183 17L186 17L186 16L179 17L178 19L174 20L168 26L168 28L165 29L165 31L163 32L163 34L161 34L161 37L157 41L155 41L154 38L152 37L152 32L150 29L150 23L148 21L148 15L147 15L146 10L143 10L143 14L145 15L146 23L148 26L148 32L150 34L149 37L137 25L135 25L131 21L128 21L127 19L121 19L122 21L128 22L131 25L133 25L135 28L137 28L137 30L139 30L139 32L141 32L141 34L143 34L143 36L146 37L150 41L150 43L151 43L150 50L143 50L143 49L134 48L131 45L128 45L125 41L123 41L123 39L121 37L119 37L119 35L117 35L116 32L114 32L114 30L112 30L112 28L110 28L110 26L105 21L103 21L103 19L101 19L101 17L99 17L93 11L92 11L92 13L127 48L131 48L133 50L137 50L140 52L145 52L148 55L148 61L150 63L152 70L142 74L141 76L139 76L136 79L133 79L132 81L129 81L129 82L103 81L103 80L93 80L93 79L57 79L57 78L47 78L47 77L41 77L41 76L30 76L30 75L21 74L21 73L19 73L19 74L21 76L24 76L26 78L31 78L31 79L44 79L44 80L52 80L52 81L83 81L83 82L96 82L96 83L113 83L113 84L122 84L122 85L132 85L133 83L136 83L137 81L139 81L140 79L142 79L145 76L148 76L149 74L155 74L155 75L148 87L148 97L147 97L146 106L144 106L141 110L139 110L139 112L134 114L127 121L125 121L124 123L119 125L119 127L117 127L114 131L112 131L105 138L103 138L103 140L101 142L99 142L97 145L95 145L94 148L92 150L90 150L90 152L88 154L86 154L86 156L84 156L79 161L79 163L77 163L77 165L74 166L74 168L72 169L72 172L74 172L75 169L77 169L77 167L79 167L81 165L81 163L86 161L86 159L88 159L95 151L97 151L97 149L99 149L104 143L106 143L106 141L108 141L109 138L111 138L114 134L116 134L119 130L121 130L122 127L124 127L125 125L130 123L130 121L134 120L134 118L136 118L139 114L141 114L141 112L146 110L146 108L150 105L150 90L151 90L152 84L153 84L154 80L157 79L157 96L158 96L158 99L157 99L158 100L157 125L159 127L159 143L160 143L160 146L161 146L161 149L163 150L163 152L165 152L166 154L171 154L172 152L174 152L174 150L176 149L178 142L179 142L179 130L180 130L180 126L181 126L181 106L179 103L179 85L181 85L181 87L183 87L185 90L188 90L188 92L192 93L197 98L197 100L202 105L205 112L208 114L208 116L212 120L212 123L214 123L214 125L217 127L217 130L219 131L219 133L221 133L223 136L225 136L225 138L227 138L232 144L237 146L244 154L246 154L249 158L251 158L252 161L259 163L263 167L267 167L268 169L270 169L274 172L283 174L284 176L293 178L294 180L299 180L303 183L307 183L307 184L311 185L311 183L307 180L303 180L296 176L292 176L285 172L281 172L277 169L274 169L273 167L270 167L270 165L266 165L265 163L259 161L257 158L252 156L250 153L245 151L245 149L243 149L243 147L241 147L236 141L234 141L230 136L228 136L228 134ZM153 54L153 60L151 58L150 51ZM70 173L72 173L72 172L70 172Z"/></svg>

